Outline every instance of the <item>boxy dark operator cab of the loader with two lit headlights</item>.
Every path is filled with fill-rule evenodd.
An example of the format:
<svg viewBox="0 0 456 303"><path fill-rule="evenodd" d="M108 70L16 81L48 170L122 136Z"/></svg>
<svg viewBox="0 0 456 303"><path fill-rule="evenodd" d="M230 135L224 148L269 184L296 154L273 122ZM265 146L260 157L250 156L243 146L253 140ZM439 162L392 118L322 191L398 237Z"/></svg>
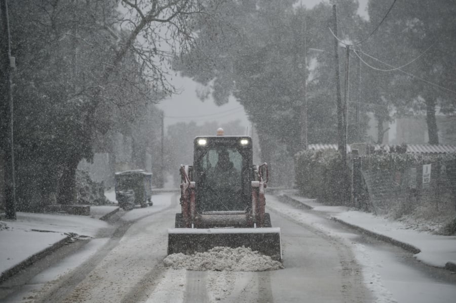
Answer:
<svg viewBox="0 0 456 303"><path fill-rule="evenodd" d="M194 141L197 211L245 211L250 207L252 140L206 136Z"/></svg>

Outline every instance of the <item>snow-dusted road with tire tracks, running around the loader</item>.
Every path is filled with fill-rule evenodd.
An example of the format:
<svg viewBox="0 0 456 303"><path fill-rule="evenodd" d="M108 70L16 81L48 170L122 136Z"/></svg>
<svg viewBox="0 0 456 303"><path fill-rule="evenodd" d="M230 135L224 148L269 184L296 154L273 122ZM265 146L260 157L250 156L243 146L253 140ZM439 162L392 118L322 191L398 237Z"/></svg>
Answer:
<svg viewBox="0 0 456 303"><path fill-rule="evenodd" d="M267 197L267 204L273 226L282 231L284 269L199 272L166 268L167 228L173 227L179 211L178 196L164 193L153 200L152 207L122 213L109 237L108 231L99 235L5 302L406 302L413 298L394 287L394 272L387 265L376 268L385 258L395 264L385 256L391 255L388 249L372 254L371 243L360 243L365 240L339 229L335 222L273 196ZM413 271L404 265L401 272L406 274L396 283L411 288L407 274ZM441 297L431 301L445 302L456 291L453 285L431 282L430 277L415 275L413 281L431 294L440 290Z"/></svg>

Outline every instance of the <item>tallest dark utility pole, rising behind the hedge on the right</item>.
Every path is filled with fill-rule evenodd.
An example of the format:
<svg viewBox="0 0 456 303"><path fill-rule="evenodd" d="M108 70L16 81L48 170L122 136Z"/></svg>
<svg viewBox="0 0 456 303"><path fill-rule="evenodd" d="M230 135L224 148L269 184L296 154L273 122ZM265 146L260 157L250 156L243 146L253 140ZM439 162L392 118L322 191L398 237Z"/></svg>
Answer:
<svg viewBox="0 0 456 303"><path fill-rule="evenodd" d="M336 5L332 6L333 32L337 36L337 10ZM339 68L339 41L334 37L334 64L335 64L335 81L336 81L336 102L337 102L337 146L342 156L344 165L347 161L347 142L344 132L344 105L340 94L340 68Z"/></svg>

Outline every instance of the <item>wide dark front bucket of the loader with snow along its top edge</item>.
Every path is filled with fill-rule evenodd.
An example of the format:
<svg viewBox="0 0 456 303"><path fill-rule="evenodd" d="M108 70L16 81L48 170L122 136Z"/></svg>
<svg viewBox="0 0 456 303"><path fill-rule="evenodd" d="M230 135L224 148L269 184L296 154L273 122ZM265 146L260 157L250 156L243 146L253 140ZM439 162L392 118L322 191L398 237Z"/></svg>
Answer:
<svg viewBox="0 0 456 303"><path fill-rule="evenodd" d="M250 247L282 262L280 228L172 228L168 229L168 254L193 254L216 246Z"/></svg>

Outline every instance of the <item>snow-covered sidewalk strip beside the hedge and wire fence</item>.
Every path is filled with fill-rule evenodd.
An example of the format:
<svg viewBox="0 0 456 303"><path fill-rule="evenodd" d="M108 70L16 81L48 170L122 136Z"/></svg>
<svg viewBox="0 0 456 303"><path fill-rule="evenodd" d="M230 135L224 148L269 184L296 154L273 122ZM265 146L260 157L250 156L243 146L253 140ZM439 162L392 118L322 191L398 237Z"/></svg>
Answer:
<svg viewBox="0 0 456 303"><path fill-rule="evenodd" d="M325 206L292 193L283 193L285 200L315 211L325 212L338 222L376 236L415 253L421 262L456 271L456 236L440 236L407 229L401 222L377 217L372 213L350 210L344 206Z"/></svg>

